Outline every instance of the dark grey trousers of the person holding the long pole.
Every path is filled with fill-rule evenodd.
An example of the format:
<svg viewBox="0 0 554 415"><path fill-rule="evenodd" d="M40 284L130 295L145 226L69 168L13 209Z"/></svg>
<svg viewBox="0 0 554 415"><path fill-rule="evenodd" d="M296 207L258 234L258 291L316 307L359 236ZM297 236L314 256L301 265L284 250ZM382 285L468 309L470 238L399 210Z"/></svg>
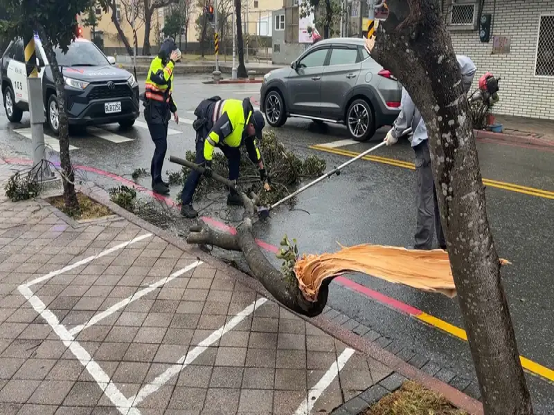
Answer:
<svg viewBox="0 0 554 415"><path fill-rule="evenodd" d="M438 246L446 248L443 227L440 224L437 192L431 168L431 154L427 140L413 147L415 151L415 174L417 176L418 219L415 230L415 249L431 249L433 234L436 231Z"/></svg>

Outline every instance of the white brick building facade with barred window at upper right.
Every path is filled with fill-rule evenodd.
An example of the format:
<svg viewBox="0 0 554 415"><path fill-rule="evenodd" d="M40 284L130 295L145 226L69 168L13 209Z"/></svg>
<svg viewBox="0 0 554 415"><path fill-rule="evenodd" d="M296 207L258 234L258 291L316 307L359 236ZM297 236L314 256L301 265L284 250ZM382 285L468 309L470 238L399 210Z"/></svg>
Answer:
<svg viewBox="0 0 554 415"><path fill-rule="evenodd" d="M554 119L553 0L444 0L443 15L456 53L471 57L479 75L501 77L494 113ZM490 40L481 42L488 15Z"/></svg>

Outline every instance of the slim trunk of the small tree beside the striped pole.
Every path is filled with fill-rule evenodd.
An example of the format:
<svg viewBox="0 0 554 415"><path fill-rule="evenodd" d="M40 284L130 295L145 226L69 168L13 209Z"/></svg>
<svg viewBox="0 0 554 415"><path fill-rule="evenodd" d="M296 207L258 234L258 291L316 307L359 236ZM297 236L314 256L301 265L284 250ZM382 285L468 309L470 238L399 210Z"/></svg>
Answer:
<svg viewBox="0 0 554 415"><path fill-rule="evenodd" d="M78 212L79 201L77 194L75 193L75 173L73 172L73 166L71 165L71 158L69 157L69 123L67 122L66 113L66 100L64 89L64 77L60 71L60 66L57 64L56 55L53 50L52 43L44 31L42 25L37 24L39 35L42 39L42 45L44 46L44 52L50 62L50 68L54 78L54 84L57 97L57 109L59 112L59 136L60 136L60 165L62 167L62 183L64 185L64 203L67 210L72 212Z"/></svg>

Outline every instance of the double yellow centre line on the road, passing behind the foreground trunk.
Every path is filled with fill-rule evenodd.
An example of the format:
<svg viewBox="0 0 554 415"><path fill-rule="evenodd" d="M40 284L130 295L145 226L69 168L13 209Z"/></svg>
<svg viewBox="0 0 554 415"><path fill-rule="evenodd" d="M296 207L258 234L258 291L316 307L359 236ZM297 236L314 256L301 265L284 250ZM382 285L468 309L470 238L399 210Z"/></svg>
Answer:
<svg viewBox="0 0 554 415"><path fill-rule="evenodd" d="M338 154L339 156L355 157L359 154L359 153L356 153L355 151L323 147L321 145L312 145L308 148L312 150L325 151L326 153ZM375 161L377 163L392 165L395 167L402 167L404 169L411 169L411 170L415 169L415 165L413 165L413 163L410 163L408 161L403 161L403 160L396 160L395 158L365 156L365 157L362 157L362 159L368 160L368 161ZM543 190L543 189L537 189L535 187L521 186L521 185L516 185L514 183L506 183L506 182L492 180L490 178L483 178L483 184L486 186L495 187L497 189L508 190L509 192L528 194L530 196L537 196L537 197L542 197L544 199L554 200L554 192L551 192L550 190Z"/></svg>

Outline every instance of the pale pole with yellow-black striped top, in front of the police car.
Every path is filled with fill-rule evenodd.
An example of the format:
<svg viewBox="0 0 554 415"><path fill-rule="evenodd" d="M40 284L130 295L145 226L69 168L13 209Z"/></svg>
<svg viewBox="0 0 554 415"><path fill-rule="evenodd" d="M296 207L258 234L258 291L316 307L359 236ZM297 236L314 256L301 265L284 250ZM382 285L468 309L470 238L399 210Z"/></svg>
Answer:
<svg viewBox="0 0 554 415"><path fill-rule="evenodd" d="M30 113L31 138L33 139L33 170L36 181L54 178L46 159L43 124L44 104L42 103L42 81L37 69L37 53L35 50L35 34L31 32L25 42L25 68L27 72L27 91Z"/></svg>

